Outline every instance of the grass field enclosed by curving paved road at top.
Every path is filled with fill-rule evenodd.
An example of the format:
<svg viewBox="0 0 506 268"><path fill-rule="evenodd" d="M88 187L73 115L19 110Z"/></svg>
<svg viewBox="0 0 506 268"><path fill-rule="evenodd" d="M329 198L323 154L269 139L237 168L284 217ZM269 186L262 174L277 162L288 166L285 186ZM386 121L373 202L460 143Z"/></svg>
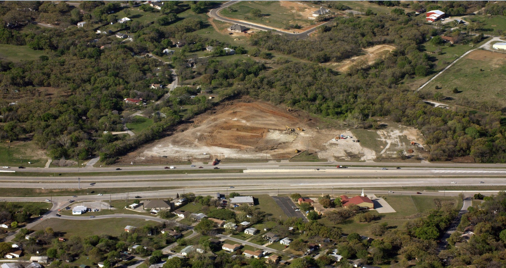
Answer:
<svg viewBox="0 0 506 268"><path fill-rule="evenodd" d="M309 20L307 17L304 17L301 13L299 13L299 11L304 10L296 10L294 8L286 7L279 1L247 1L239 2L230 7L233 9L232 12L228 9L224 9L220 12L221 15L232 19L240 19L256 24L266 25L268 27L272 26L282 29L288 24L299 24L304 27L314 23L314 20ZM312 11L318 9L310 6L306 6L304 8L311 9ZM263 16L255 17L251 15L250 12L254 9L259 9Z"/></svg>

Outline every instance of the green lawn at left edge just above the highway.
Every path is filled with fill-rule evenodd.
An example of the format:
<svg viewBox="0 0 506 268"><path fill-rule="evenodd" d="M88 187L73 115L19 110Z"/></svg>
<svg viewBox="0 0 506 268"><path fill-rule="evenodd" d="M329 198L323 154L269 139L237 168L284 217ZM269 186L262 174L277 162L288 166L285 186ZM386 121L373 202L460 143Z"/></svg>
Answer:
<svg viewBox="0 0 506 268"><path fill-rule="evenodd" d="M33 151L40 150L33 142L21 143L0 143L0 166L9 166L11 170L18 166L40 168L46 165L47 159L39 159L34 157ZM28 164L30 162L31 164Z"/></svg>

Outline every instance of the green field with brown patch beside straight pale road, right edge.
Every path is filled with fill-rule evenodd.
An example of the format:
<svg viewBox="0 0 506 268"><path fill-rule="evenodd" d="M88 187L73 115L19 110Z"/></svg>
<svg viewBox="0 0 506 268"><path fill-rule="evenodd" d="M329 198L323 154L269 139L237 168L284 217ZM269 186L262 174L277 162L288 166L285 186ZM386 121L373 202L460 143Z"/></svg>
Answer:
<svg viewBox="0 0 506 268"><path fill-rule="evenodd" d="M460 59L422 90L441 92L444 96L454 99L445 101L453 103L461 97L466 97L471 101L497 102L504 107L506 106L504 80L506 80L506 54L476 50ZM436 90L435 86L442 89ZM454 88L457 88L459 93L453 93Z"/></svg>

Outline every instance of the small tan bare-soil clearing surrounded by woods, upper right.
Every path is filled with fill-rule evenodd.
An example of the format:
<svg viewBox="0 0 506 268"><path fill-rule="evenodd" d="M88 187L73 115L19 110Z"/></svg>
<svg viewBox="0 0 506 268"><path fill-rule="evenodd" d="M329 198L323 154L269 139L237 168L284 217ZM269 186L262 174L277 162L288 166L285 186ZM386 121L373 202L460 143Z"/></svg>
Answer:
<svg viewBox="0 0 506 268"><path fill-rule="evenodd" d="M394 49L395 47L390 45L377 45L364 49L365 52L364 55L355 56L353 58L341 62L328 62L322 65L336 69L338 71L348 71L350 66L352 66L355 63L362 65L370 65L376 59L384 57Z"/></svg>

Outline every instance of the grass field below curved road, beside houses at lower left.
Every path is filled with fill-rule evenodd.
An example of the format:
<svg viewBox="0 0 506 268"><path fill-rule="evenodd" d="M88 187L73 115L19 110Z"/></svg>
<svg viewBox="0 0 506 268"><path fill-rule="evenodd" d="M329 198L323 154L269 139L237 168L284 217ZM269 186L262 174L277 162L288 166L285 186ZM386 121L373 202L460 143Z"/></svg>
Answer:
<svg viewBox="0 0 506 268"><path fill-rule="evenodd" d="M144 219L131 218L111 218L111 219L93 219L93 220L67 220L50 218L37 224L33 229L35 231L43 230L46 227L52 227L59 236L71 237L77 235L80 237L89 237L93 235L108 234L110 236L119 236L124 232L126 225L142 227L146 224L156 225L156 221L146 221Z"/></svg>

